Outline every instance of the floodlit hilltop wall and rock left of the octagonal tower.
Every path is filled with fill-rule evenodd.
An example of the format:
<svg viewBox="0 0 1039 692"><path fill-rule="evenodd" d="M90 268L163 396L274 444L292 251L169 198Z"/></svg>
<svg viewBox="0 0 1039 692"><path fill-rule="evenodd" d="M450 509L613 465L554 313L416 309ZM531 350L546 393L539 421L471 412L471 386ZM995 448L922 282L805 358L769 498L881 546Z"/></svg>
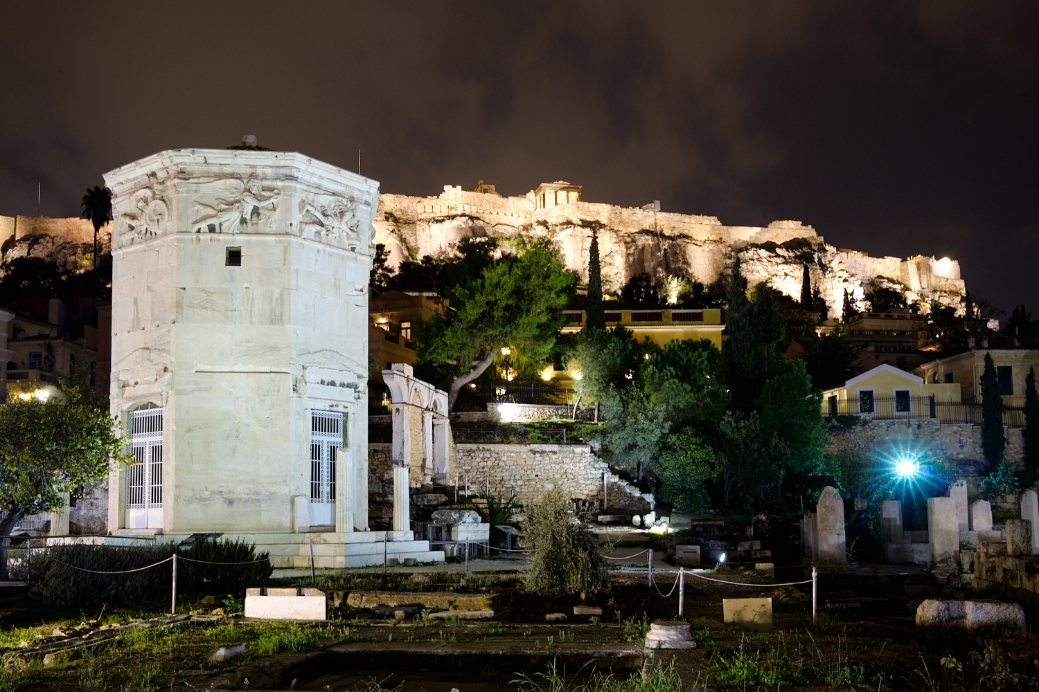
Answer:
<svg viewBox="0 0 1039 692"><path fill-rule="evenodd" d="M111 222L98 232L99 254L108 252ZM86 219L52 219L45 216L0 216L0 261L16 257L43 257L63 271L79 267L94 248L94 224Z"/></svg>

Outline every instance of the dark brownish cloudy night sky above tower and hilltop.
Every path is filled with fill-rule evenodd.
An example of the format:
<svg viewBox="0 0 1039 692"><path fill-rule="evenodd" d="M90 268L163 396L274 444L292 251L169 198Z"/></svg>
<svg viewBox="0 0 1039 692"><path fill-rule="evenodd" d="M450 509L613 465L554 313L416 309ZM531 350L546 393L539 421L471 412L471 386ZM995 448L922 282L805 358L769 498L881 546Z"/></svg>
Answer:
<svg viewBox="0 0 1039 692"><path fill-rule="evenodd" d="M799 219L1039 316L1034 1L215 4L0 5L0 214L254 134L384 192Z"/></svg>

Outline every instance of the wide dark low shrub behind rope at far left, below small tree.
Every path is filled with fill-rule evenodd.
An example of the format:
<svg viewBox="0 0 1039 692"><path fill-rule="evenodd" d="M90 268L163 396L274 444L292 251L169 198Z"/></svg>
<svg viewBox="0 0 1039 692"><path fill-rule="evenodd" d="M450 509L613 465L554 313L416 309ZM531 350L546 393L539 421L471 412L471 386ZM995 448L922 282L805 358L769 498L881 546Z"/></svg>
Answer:
<svg viewBox="0 0 1039 692"><path fill-rule="evenodd" d="M148 548L53 546L34 550L31 557L12 565L12 574L17 579L30 582L34 599L55 608L134 601L156 593L169 593L172 574L168 562L122 575L94 574L83 570L137 570L166 559L175 550L176 547L168 544Z"/></svg>

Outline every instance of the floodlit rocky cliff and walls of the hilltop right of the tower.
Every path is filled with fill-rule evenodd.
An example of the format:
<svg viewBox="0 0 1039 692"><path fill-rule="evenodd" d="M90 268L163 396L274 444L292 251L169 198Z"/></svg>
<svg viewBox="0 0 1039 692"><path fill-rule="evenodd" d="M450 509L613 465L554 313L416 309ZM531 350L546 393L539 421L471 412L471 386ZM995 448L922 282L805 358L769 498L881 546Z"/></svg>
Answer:
<svg viewBox="0 0 1039 692"><path fill-rule="evenodd" d="M801 295L807 265L831 317L840 316L845 290L860 302L860 309L867 307L861 301L872 285L897 288L910 303L934 299L959 305L965 290L955 260L870 257L827 245L799 221L726 226L711 216L586 201L545 206L539 199L535 192L502 197L453 186L445 186L436 197L382 194L373 222L375 242L387 246L397 266L408 256L448 252L451 244L468 237L550 238L567 267L586 280L591 231L597 227L608 290L642 272L657 279L693 275L710 283L739 255L750 285L767 281L794 298Z"/></svg>

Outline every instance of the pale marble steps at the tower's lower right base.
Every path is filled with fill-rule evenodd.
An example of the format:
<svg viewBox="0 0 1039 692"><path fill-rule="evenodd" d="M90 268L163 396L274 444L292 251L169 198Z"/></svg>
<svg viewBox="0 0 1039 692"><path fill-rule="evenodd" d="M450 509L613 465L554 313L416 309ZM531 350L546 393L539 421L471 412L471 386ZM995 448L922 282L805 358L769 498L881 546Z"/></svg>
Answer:
<svg viewBox="0 0 1039 692"><path fill-rule="evenodd" d="M393 560L402 564L406 559L420 563L443 562L444 551L430 550L429 542L416 541L411 531L354 531L346 534L344 543L314 542L314 566L317 569L381 566L383 559L391 564ZM299 554L294 556L293 566L311 566L310 544L299 546Z"/></svg>

